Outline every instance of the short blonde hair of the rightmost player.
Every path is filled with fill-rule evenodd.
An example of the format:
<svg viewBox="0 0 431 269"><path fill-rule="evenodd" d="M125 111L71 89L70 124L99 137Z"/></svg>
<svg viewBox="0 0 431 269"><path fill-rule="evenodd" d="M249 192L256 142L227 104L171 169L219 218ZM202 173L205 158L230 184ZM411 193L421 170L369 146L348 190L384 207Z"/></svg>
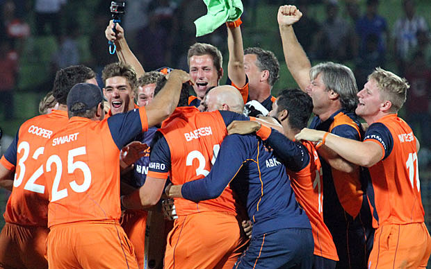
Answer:
<svg viewBox="0 0 431 269"><path fill-rule="evenodd" d="M368 76L368 80L371 79L377 83L377 87L380 90L380 98L383 99L382 101L391 101L392 106L389 111L398 112L407 98L407 89L410 87L407 80L380 67L377 67Z"/></svg>

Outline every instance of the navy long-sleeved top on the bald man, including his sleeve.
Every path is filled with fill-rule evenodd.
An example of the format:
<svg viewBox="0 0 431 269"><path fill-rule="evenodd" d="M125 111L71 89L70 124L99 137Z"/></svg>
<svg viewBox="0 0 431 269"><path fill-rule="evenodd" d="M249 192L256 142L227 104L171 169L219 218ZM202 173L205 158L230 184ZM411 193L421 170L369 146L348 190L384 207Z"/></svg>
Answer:
<svg viewBox="0 0 431 269"><path fill-rule="evenodd" d="M245 177L235 177L240 169ZM186 182L181 193L193 201L216 198L234 177L248 185L245 197L248 216L253 220L252 234L311 228L307 215L295 200L286 167L253 134L227 136L209 175Z"/></svg>

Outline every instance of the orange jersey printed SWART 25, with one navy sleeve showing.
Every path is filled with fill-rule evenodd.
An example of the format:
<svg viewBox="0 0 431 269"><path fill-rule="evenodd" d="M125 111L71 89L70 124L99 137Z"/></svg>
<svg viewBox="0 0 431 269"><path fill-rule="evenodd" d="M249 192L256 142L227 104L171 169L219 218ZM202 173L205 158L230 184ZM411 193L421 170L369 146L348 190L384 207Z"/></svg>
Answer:
<svg viewBox="0 0 431 269"><path fill-rule="evenodd" d="M120 149L147 130L145 107L103 121L72 117L45 145L48 227L120 219Z"/></svg>

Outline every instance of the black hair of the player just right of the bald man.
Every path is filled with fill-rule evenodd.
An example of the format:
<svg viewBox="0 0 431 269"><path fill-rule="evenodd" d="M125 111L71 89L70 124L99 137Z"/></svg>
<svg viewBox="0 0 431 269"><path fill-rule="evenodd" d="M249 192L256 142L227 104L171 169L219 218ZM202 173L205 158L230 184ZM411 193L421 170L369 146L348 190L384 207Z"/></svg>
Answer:
<svg viewBox="0 0 431 269"><path fill-rule="evenodd" d="M288 111L288 122L291 128L302 130L307 127L313 111L313 101L300 89L284 89L277 98L277 113L282 110Z"/></svg>

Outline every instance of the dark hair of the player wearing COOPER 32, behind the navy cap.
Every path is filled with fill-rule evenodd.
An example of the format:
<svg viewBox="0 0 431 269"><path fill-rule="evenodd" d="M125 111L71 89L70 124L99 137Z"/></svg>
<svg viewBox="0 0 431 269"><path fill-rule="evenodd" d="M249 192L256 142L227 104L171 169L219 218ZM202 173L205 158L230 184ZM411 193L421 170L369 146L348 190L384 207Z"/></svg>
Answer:
<svg viewBox="0 0 431 269"><path fill-rule="evenodd" d="M56 98L57 102L61 105L66 105L67 94L75 84L85 83L86 80L95 78L96 74L89 67L83 65L72 65L60 69L56 73L54 79L54 86L52 87L52 95Z"/></svg>

